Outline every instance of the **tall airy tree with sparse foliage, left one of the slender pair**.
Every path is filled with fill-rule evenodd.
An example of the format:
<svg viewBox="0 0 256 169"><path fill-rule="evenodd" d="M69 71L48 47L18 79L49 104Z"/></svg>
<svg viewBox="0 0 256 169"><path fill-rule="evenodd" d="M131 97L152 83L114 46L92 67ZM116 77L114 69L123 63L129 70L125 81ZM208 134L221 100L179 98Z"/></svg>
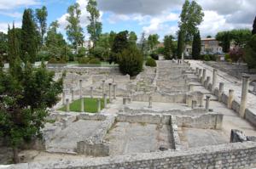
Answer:
<svg viewBox="0 0 256 169"><path fill-rule="evenodd" d="M67 13L67 39L73 44L73 48L76 49L76 54L78 54L79 44L84 42L83 29L80 25L81 10L79 9L79 3L69 6Z"/></svg>

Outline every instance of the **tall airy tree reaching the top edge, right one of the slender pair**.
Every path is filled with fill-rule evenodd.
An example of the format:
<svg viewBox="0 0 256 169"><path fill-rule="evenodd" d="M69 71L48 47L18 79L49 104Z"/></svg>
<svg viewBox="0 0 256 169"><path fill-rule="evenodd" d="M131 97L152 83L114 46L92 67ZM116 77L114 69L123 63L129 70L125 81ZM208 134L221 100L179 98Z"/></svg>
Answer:
<svg viewBox="0 0 256 169"><path fill-rule="evenodd" d="M96 6L96 0L89 0L86 7L86 10L90 14L88 16L90 24L87 26L87 31L90 34L90 40L93 42L93 46L96 46L96 42L102 33L102 23L99 21L100 12Z"/></svg>

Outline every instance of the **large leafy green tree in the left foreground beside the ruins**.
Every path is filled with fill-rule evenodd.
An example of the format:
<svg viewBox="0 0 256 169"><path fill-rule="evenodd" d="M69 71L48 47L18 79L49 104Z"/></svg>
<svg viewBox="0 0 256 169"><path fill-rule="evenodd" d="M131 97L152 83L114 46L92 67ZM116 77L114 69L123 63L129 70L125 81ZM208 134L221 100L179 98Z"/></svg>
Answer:
<svg viewBox="0 0 256 169"><path fill-rule="evenodd" d="M54 73L44 67L21 68L18 59L15 70L0 70L0 135L9 140L18 163L20 145L41 137L47 108L57 103L62 79L55 82Z"/></svg>

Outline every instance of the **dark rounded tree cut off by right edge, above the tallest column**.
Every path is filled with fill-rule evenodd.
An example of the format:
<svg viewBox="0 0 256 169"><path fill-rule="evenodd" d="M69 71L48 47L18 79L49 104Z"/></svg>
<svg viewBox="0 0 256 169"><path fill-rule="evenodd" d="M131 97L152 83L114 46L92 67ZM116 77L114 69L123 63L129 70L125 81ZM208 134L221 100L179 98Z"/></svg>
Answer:
<svg viewBox="0 0 256 169"><path fill-rule="evenodd" d="M247 42L245 47L244 59L250 69L256 68L256 35L251 37L250 41Z"/></svg>

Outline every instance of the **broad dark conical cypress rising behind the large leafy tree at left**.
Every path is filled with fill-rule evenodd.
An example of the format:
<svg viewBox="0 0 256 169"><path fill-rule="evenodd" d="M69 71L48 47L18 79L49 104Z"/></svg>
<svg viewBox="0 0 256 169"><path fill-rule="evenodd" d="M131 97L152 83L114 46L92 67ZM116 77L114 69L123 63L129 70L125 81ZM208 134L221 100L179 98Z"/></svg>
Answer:
<svg viewBox="0 0 256 169"><path fill-rule="evenodd" d="M20 58L24 62L34 63L38 48L38 35L36 24L33 20L32 9L30 8L24 10L21 30ZM25 57L26 53L28 58Z"/></svg>

